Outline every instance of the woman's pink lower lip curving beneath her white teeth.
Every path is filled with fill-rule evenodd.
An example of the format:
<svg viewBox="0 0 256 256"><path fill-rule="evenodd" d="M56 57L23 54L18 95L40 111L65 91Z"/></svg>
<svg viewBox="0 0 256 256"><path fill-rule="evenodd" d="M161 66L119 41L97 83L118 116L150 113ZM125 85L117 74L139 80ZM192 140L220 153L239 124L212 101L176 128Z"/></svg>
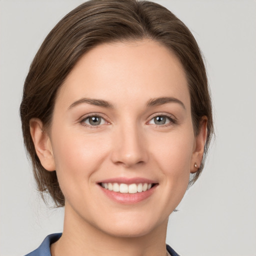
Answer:
<svg viewBox="0 0 256 256"><path fill-rule="evenodd" d="M123 204L133 204L133 203L138 203L138 202L145 200L154 192L156 186L157 186L157 184L155 184L153 187L151 187L150 189L148 189L146 191L131 194L131 193L120 193L120 192L110 191L110 190L103 188L102 186L99 185L101 190L110 199L112 199L118 203L123 203Z"/></svg>

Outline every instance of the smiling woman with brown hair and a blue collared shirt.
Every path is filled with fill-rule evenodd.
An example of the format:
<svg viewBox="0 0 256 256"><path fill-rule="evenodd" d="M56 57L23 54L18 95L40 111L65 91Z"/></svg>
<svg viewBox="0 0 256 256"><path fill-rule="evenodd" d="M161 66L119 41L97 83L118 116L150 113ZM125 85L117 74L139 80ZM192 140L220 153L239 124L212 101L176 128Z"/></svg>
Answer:
<svg viewBox="0 0 256 256"><path fill-rule="evenodd" d="M177 255L168 216L213 128L200 50L176 16L149 1L81 4L38 50L20 115L38 189L65 206L63 233L28 255Z"/></svg>

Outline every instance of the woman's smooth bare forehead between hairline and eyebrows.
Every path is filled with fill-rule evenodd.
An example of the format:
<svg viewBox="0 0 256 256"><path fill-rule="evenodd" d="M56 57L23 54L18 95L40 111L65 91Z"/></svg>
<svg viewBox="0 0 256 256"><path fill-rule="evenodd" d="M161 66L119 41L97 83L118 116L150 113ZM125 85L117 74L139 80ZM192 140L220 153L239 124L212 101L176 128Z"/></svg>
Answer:
<svg viewBox="0 0 256 256"><path fill-rule="evenodd" d="M174 53L152 40L115 42L100 44L80 58L56 104L71 104L81 97L121 103L158 96L175 96L190 104L185 72Z"/></svg>

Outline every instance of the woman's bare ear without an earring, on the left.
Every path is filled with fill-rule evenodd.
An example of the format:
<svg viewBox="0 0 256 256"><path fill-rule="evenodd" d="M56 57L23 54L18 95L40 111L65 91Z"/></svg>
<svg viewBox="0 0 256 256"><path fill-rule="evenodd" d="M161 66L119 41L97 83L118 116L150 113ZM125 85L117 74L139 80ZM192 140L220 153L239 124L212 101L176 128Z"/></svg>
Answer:
<svg viewBox="0 0 256 256"><path fill-rule="evenodd" d="M55 162L51 141L48 134L43 130L42 121L38 118L29 120L30 134L34 142L36 154L41 165L46 170L55 170Z"/></svg>

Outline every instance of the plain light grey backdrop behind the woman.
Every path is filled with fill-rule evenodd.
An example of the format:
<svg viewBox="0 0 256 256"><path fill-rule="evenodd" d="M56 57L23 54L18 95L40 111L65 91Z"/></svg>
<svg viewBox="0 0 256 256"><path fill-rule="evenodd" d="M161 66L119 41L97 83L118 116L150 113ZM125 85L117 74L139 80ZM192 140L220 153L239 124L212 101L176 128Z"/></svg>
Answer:
<svg viewBox="0 0 256 256"><path fill-rule="evenodd" d="M24 255L62 231L63 209L36 192L18 108L29 64L82 0L0 0L0 255ZM158 0L204 56L216 137L205 169L171 214L166 242L185 256L256 255L256 1Z"/></svg>

